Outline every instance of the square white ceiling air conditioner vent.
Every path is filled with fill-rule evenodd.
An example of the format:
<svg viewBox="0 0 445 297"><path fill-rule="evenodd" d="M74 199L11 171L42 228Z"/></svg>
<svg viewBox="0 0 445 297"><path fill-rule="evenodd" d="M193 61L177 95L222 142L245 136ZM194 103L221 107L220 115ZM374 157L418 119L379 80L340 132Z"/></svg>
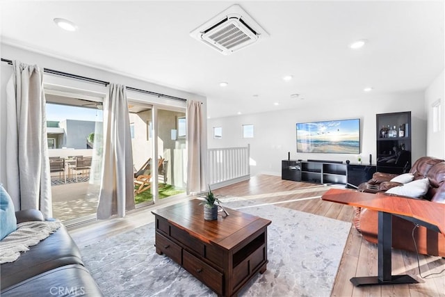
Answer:
<svg viewBox="0 0 445 297"><path fill-rule="evenodd" d="M268 37L268 33L236 4L191 31L190 35L225 55Z"/></svg>

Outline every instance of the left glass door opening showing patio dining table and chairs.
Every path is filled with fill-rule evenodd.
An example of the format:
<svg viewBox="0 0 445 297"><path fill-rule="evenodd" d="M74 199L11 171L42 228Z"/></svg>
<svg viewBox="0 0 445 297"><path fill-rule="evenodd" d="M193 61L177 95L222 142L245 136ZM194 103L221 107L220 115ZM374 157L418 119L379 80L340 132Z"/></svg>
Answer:
<svg viewBox="0 0 445 297"><path fill-rule="evenodd" d="M53 216L65 225L94 220L102 170L102 102L46 98Z"/></svg>

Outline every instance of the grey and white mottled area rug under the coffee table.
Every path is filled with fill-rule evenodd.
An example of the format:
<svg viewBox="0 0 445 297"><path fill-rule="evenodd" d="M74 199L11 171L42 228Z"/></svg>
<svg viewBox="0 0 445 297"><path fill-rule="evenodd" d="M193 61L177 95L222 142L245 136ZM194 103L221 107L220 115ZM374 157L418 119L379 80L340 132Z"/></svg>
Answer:
<svg viewBox="0 0 445 297"><path fill-rule="evenodd" d="M330 296L350 223L254 200L225 207L268 218L267 271L239 296ZM216 296L154 249L154 223L81 247L83 262L105 296Z"/></svg>

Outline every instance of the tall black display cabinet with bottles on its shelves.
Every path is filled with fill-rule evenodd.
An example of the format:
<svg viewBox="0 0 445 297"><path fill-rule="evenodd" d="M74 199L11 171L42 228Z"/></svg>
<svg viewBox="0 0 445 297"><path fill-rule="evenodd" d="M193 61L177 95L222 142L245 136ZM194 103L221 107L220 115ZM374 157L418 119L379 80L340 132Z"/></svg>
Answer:
<svg viewBox="0 0 445 297"><path fill-rule="evenodd" d="M411 111L376 115L377 171L401 174L411 168Z"/></svg>

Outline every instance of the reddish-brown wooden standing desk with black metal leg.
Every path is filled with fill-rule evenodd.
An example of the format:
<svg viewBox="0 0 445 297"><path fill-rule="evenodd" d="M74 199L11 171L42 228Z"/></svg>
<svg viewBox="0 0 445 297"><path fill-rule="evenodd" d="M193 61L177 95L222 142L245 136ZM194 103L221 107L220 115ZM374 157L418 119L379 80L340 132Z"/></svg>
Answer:
<svg viewBox="0 0 445 297"><path fill-rule="evenodd" d="M322 200L378 211L378 276L351 278L356 286L366 284L413 284L410 275L391 275L392 216L400 216L445 236L445 204L426 200L331 189Z"/></svg>

